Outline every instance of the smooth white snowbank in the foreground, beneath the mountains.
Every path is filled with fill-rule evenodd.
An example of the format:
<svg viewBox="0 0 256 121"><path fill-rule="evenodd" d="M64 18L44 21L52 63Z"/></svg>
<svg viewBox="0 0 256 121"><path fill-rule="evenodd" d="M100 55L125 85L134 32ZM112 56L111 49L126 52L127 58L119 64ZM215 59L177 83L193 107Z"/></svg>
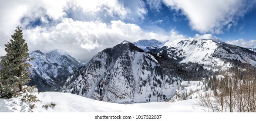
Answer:
<svg viewBox="0 0 256 121"><path fill-rule="evenodd" d="M197 99L125 105L61 92L40 92L36 95L40 102L34 103L34 112L203 112L203 107L198 104ZM20 101L21 98L0 99L0 112L30 112L29 104ZM56 106L43 107L51 103Z"/></svg>

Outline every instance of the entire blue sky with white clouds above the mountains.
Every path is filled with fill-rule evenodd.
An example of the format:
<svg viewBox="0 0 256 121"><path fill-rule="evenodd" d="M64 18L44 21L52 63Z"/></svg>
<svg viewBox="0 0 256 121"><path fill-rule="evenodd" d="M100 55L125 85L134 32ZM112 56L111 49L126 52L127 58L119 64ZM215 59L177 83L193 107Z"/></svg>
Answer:
<svg viewBox="0 0 256 121"><path fill-rule="evenodd" d="M30 51L88 61L123 40L203 38L256 47L255 0L1 0L0 56L20 25Z"/></svg>

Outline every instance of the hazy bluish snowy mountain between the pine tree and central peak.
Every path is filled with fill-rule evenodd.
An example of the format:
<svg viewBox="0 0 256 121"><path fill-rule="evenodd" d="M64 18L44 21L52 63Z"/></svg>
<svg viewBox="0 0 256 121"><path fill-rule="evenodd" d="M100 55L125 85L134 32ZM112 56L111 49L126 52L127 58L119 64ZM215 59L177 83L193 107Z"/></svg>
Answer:
<svg viewBox="0 0 256 121"><path fill-rule="evenodd" d="M64 51L52 50L42 53L29 53L34 60L30 61L31 81L28 85L36 85L39 91L58 91L74 69L83 66L75 57Z"/></svg>

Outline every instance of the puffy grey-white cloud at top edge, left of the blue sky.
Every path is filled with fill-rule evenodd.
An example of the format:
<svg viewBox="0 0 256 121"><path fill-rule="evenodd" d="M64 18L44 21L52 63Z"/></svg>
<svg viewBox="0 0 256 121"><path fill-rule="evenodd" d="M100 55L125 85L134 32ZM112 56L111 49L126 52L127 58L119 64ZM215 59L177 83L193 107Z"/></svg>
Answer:
<svg viewBox="0 0 256 121"><path fill-rule="evenodd" d="M69 17L82 21L111 21L112 19L129 19L131 11L118 0L72 0L67 3L65 11ZM69 14L71 13L71 15Z"/></svg>

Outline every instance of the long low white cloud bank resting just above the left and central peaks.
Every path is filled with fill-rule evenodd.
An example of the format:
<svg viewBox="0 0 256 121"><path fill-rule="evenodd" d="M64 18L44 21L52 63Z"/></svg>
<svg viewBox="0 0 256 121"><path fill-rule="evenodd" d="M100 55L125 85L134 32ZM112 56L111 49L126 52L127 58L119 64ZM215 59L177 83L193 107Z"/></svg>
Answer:
<svg viewBox="0 0 256 121"><path fill-rule="evenodd" d="M52 27L37 26L23 31L30 51L60 49L81 60L89 60L105 48L113 47L123 40L140 39L174 40L185 38L178 32L147 32L138 25L118 21L82 22L64 19Z"/></svg>

